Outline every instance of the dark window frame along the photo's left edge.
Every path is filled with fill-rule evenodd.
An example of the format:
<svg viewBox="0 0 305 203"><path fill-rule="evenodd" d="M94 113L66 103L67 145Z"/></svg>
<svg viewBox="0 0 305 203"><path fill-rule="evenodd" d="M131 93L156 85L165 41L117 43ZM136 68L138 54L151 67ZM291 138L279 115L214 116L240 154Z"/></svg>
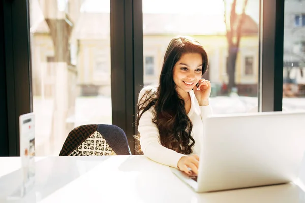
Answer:
<svg viewBox="0 0 305 203"><path fill-rule="evenodd" d="M6 156L19 156L19 116L33 112L31 92L31 38L29 35L29 7L27 1L2 1L4 49L3 66L6 81L7 114L6 138L8 141L8 154Z"/></svg>

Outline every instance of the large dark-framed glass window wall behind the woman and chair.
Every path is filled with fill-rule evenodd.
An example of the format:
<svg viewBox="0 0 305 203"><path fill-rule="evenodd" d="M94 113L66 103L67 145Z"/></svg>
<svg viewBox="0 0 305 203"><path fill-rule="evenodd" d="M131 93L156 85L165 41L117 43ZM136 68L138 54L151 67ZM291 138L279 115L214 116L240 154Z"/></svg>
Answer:
<svg viewBox="0 0 305 203"><path fill-rule="evenodd" d="M0 14L8 131L1 143L10 143L5 154L18 155L18 118L32 104L38 156L58 155L70 130L88 123L121 127L132 150L137 94L143 81L158 84L176 35L205 47L210 65L203 77L212 82L216 113L257 111L258 104L260 111L281 110L282 74L283 108L305 109L304 0L285 1L284 73L283 2L236 0L232 7L234 1L6 1Z"/></svg>

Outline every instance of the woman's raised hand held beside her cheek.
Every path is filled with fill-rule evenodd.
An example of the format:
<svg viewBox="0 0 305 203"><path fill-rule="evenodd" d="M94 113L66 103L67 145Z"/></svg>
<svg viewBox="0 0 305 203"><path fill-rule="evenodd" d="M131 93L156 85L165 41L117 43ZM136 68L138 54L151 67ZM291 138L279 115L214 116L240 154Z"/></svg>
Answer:
<svg viewBox="0 0 305 203"><path fill-rule="evenodd" d="M199 80L199 86L194 87L194 93L200 106L209 105L209 96L211 94L211 82L205 79Z"/></svg>

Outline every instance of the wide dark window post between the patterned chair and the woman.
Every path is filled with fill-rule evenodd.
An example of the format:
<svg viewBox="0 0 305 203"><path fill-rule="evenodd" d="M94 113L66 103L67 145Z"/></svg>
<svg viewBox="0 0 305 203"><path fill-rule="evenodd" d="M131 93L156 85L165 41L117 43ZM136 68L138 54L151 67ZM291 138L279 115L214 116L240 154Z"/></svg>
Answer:
<svg viewBox="0 0 305 203"><path fill-rule="evenodd" d="M110 1L112 124L125 131L132 154L137 100L143 87L142 16L142 1Z"/></svg>

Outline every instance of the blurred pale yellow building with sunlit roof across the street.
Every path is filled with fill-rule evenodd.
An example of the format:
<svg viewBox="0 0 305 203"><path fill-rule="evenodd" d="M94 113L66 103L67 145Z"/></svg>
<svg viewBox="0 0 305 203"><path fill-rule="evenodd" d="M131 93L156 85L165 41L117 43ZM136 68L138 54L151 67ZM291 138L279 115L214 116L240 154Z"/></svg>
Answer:
<svg viewBox="0 0 305 203"><path fill-rule="evenodd" d="M110 14L79 13L73 22L70 39L71 64L77 68L77 85L80 95L110 94ZM53 43L48 35L48 26L42 21L33 28L33 60L37 78L44 82L51 76L48 61L54 54ZM209 56L209 71L206 78L220 87L228 83L226 57L228 46L223 16L199 14L143 14L143 66L144 83L157 84L162 60L170 40L176 35L190 35L206 49ZM241 94L257 95L258 83L258 24L246 16L242 27L242 38L236 59L235 83ZM118 59L119 60L119 59ZM44 64L44 65L41 65ZM46 67L49 75L41 73ZM35 89L41 81L35 79ZM47 83L45 83L47 84ZM49 84L49 83L48 83ZM45 86L44 92L51 90ZM39 95L39 91L36 95ZM43 92L42 90L40 92Z"/></svg>

